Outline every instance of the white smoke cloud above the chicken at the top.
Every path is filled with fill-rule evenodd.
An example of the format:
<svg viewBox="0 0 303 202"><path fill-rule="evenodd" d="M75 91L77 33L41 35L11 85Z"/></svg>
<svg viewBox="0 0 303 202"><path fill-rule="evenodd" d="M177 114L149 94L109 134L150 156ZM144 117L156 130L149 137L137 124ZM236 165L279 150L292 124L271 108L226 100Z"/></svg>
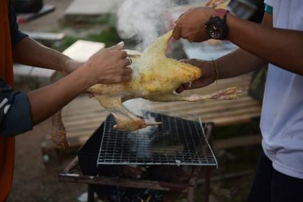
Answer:
<svg viewBox="0 0 303 202"><path fill-rule="evenodd" d="M142 51L170 29L168 9L171 0L126 0L118 10L117 28L121 38L134 39Z"/></svg>

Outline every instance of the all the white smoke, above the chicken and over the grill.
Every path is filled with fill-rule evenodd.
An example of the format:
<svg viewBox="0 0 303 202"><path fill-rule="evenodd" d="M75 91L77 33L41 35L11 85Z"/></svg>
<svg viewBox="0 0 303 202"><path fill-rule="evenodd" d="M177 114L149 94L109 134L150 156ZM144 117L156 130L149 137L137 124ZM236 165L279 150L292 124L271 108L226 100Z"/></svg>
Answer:
<svg viewBox="0 0 303 202"><path fill-rule="evenodd" d="M195 3L201 0L125 0L117 12L117 31L124 39L134 40L138 45L135 49L142 52L153 41L173 27L170 8L182 3ZM181 14L181 13L180 13ZM145 113L151 110L150 101L132 99L124 106L136 115L145 117L147 122L156 122L154 117ZM149 148L154 140L154 131L157 126L146 127L128 134L131 150L140 148L138 157L150 157ZM145 141L142 141L142 138Z"/></svg>

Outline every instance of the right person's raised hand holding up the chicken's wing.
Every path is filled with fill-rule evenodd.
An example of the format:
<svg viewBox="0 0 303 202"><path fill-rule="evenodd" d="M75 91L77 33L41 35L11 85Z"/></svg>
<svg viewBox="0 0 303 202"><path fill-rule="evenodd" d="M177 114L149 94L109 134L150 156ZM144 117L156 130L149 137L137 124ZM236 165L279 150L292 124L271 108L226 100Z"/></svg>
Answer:
<svg viewBox="0 0 303 202"><path fill-rule="evenodd" d="M214 8L195 7L187 10L176 21L172 37L176 40L186 38L189 42L207 41L210 36L205 30L205 22L215 12Z"/></svg>

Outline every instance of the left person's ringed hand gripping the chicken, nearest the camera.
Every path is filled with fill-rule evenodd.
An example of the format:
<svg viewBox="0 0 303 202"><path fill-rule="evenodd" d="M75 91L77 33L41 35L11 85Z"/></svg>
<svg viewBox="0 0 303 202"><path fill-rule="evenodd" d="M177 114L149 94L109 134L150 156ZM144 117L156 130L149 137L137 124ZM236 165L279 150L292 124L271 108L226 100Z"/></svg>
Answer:
<svg viewBox="0 0 303 202"><path fill-rule="evenodd" d="M103 48L91 56L85 63L90 79L94 84L115 84L125 82L131 78L131 59L127 58L126 51L122 50L121 42L111 48Z"/></svg>

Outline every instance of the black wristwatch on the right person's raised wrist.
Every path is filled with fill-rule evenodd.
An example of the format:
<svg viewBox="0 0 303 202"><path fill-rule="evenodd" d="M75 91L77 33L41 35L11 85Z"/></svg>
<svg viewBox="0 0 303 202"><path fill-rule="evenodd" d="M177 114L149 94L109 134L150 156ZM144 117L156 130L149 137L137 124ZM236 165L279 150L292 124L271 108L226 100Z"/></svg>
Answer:
<svg viewBox="0 0 303 202"><path fill-rule="evenodd" d="M205 23L205 29L211 38L226 39L228 34L228 25L226 24L227 13L228 10L217 9Z"/></svg>

